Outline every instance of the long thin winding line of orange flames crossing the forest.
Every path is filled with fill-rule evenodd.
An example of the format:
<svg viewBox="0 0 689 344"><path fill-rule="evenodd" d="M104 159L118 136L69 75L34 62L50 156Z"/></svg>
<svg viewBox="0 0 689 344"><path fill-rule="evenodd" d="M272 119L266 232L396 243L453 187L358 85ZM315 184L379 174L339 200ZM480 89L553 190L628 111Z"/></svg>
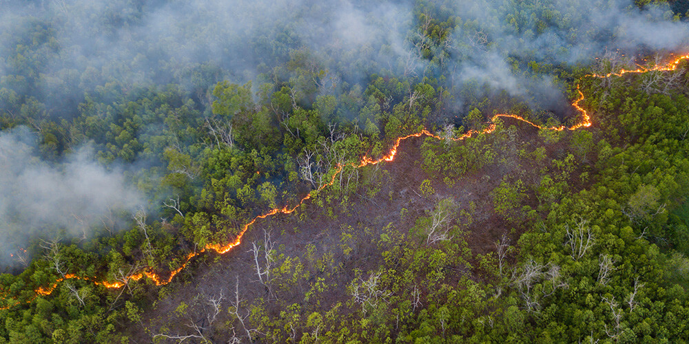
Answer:
<svg viewBox="0 0 689 344"><path fill-rule="evenodd" d="M593 78L607 78L610 76L623 76L624 74L628 74L628 73L646 73L646 72L651 72L651 71L662 71L662 72L674 71L679 66L679 63L681 63L681 61L686 60L686 59L689 59L689 54L680 56L679 58L676 58L674 61L670 61L670 63L667 63L666 65L656 65L655 67L652 67L652 68L646 68L646 67L639 66L639 68L633 69L633 70L621 69L617 73L609 73L609 74L605 74L605 75L588 74L586 76L590 76ZM465 138L470 138L471 136L474 136L477 134L492 133L493 131L495 131L495 127L496 127L495 126L495 120L497 120L497 118L513 118L515 120L519 120L521 122L524 122L528 125L531 125L532 127L538 128L538 129L556 130L556 131L563 131L565 129L576 130L576 129L579 129L582 127L590 127L591 121L590 121L590 116L588 115L588 112L585 109L583 109L581 106L579 106L579 102L584 100L584 94L581 92L581 90L579 90L579 85L577 85L577 92L579 92L579 98L577 98L577 100L575 100L572 103L572 106L575 107L575 109L577 109L582 114L582 120L580 122L578 122L576 125L573 125L571 127L565 127L565 126L543 127L541 125L535 124L534 122L526 120L525 118L523 118L521 116L517 116L517 115L513 115L513 114L496 114L495 116L491 117L491 120L489 122L489 126L486 127L486 129L483 129L482 131L470 130L470 131L467 131L466 133L464 133L460 137L451 138L451 140L459 141L459 140L464 140ZM381 158L374 160L373 158L369 158L367 156L364 156L358 164L356 164L356 163L355 164L349 164L347 166L352 166L353 168L360 168L363 166L379 164L380 162L393 161L395 159L395 155L397 155L398 147L400 146L400 143L402 141L407 140L408 138L418 138L420 136L429 136L431 138L436 138L438 140L444 140L444 138L441 138L440 136L437 136L437 135L431 133L427 129L423 129L422 131L420 131L418 133L412 133L412 134L409 134L407 136L401 136L401 137L397 138L395 140L395 143L391 147L390 151L386 155L383 155ZM114 282L93 281L95 278L90 279L88 277L79 277L76 275L68 274L68 275L64 275L64 277L62 277L62 278L56 279L56 281L51 283L50 286L39 287L34 291L36 292L37 296L38 295L41 295L41 296L49 295L55 290L55 288L57 287L57 284L60 283L61 281L64 281L65 279L83 279L85 281L93 281L94 284L96 284L98 286L104 286L105 288L122 288L123 286L126 286L127 283L129 283L130 281L138 281L139 279L142 279L145 276L145 277L151 279L152 281L154 281L156 286L165 285L165 284L169 283L170 281L172 281L172 279L175 277L175 275L177 275L181 270L186 268L187 264L189 264L189 261L191 261L192 258L202 254L206 250L213 250L213 251L218 252L219 254L222 255L222 254L225 254L225 253L229 252L230 250L232 250L232 248L234 248L235 246L240 245L242 243L242 237L243 237L244 233L246 233L247 230L249 230L249 227L251 225L253 225L254 223L256 223L256 221L258 219L265 219L266 217L276 215L276 214L293 213L304 202L311 199L311 197L313 195L315 195L316 193L318 193L322 189L325 189L327 186L331 186L335 182L336 177L340 174L340 172L342 172L342 169L344 169L344 167L345 166L338 164L337 168L335 169L335 171L332 175L331 180L328 183L322 184L320 187L318 187L318 189L311 191L311 193L308 193L306 196L302 197L302 199L295 206L293 206L291 208L288 208L287 206L285 206L283 208L274 208L274 209L271 209L270 211L268 211L267 213L264 213L262 215L258 215L256 217L254 217L254 219L251 219L251 221L247 222L247 224L245 224L242 227L242 230L240 230L240 233L237 235L237 237L236 237L236 239L234 239L234 241L231 241L227 244L207 244L201 250L198 250L195 252L190 252L186 257L185 262L179 268L172 270L169 273L169 276L167 278L161 277L161 275L156 274L156 272L154 272L153 270L150 270L150 268L147 268L147 270L143 270L143 271L138 272L134 275L130 275L129 277L126 277L125 279L122 279L120 281L114 281ZM256 173L260 174L260 171L256 171ZM30 303L37 296L29 299L27 302ZM5 310L5 309L8 309L10 307L13 307L14 305L19 304L19 301L16 301L14 298L6 298L5 301L14 301L14 303L13 304L8 303L8 305L0 308L0 310Z"/></svg>

